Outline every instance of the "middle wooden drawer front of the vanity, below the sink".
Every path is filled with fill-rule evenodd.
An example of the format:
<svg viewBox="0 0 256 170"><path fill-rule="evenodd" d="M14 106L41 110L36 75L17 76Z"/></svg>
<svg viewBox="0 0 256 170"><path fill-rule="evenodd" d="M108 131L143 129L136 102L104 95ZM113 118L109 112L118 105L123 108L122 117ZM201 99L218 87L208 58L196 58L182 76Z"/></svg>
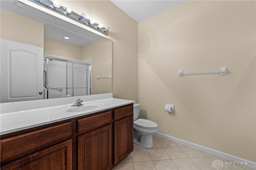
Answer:
<svg viewBox="0 0 256 170"><path fill-rule="evenodd" d="M104 125L105 123L108 123L111 121L111 111L107 111L104 113L100 113L98 115L93 115L90 117L86 117L83 119L77 120L77 131L78 133L87 131L89 129L92 129L94 127Z"/></svg>

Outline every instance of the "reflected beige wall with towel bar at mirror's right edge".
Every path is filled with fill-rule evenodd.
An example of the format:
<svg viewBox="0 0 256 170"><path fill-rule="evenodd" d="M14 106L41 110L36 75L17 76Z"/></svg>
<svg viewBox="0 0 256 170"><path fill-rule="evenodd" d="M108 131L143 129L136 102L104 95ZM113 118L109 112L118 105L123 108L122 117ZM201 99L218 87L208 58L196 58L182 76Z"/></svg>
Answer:
<svg viewBox="0 0 256 170"><path fill-rule="evenodd" d="M82 47L82 60L92 58L92 94L112 92L112 79L97 76L112 75L112 41L102 38Z"/></svg>

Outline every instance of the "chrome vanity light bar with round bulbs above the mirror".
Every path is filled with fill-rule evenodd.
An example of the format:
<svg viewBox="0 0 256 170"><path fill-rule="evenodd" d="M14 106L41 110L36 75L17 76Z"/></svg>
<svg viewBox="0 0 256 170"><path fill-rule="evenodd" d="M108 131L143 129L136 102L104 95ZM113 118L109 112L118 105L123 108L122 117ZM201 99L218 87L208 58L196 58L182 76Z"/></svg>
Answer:
<svg viewBox="0 0 256 170"><path fill-rule="evenodd" d="M34 2L35 4L40 5L44 8L47 8L48 10L52 10L74 21L82 23L83 25L86 25L87 27L90 27L100 33L103 33L104 35L108 35L108 32L110 31L109 27L106 28L102 24L96 23L94 20L90 20L86 18L86 14L84 13L78 14L74 12L70 7L62 6L60 4L60 0L28 0L28 1Z"/></svg>

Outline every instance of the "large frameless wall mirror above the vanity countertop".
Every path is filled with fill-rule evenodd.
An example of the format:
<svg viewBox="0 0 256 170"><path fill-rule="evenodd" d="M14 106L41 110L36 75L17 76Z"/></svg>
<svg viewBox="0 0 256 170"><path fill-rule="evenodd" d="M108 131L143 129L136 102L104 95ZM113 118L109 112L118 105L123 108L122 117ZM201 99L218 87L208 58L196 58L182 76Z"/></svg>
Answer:
<svg viewBox="0 0 256 170"><path fill-rule="evenodd" d="M17 0L1 0L0 8L1 82L4 82L1 83L1 102L44 98L44 94L41 93L45 83L44 57L91 64L91 94L112 92L112 41L110 39ZM70 39L64 39L64 37ZM16 50L6 52L5 49L8 50L8 47L15 47ZM24 59L31 61L29 64L26 60L14 60L19 49L25 51L20 53ZM58 68L55 70L61 72ZM76 77L80 73L81 71L72 74ZM110 78L106 78L107 76ZM20 78L25 78L26 81L20 83ZM57 78L60 77L57 76ZM32 84L36 84L37 87ZM27 92L25 97L24 86L31 86L30 89L33 89L32 92ZM8 100L2 100L2 94L5 94L7 97L4 98Z"/></svg>

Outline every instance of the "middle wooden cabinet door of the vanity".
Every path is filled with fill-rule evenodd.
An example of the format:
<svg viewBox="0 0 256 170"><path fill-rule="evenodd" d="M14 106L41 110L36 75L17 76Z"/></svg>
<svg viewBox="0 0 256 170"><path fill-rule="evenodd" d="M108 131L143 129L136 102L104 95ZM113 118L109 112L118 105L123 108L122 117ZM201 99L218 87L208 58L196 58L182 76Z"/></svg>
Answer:
<svg viewBox="0 0 256 170"><path fill-rule="evenodd" d="M78 170L110 170L112 168L111 125L78 137Z"/></svg>

